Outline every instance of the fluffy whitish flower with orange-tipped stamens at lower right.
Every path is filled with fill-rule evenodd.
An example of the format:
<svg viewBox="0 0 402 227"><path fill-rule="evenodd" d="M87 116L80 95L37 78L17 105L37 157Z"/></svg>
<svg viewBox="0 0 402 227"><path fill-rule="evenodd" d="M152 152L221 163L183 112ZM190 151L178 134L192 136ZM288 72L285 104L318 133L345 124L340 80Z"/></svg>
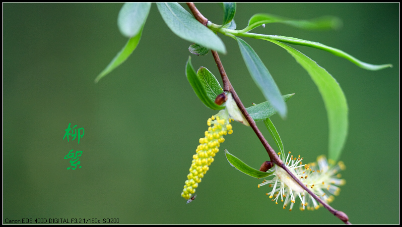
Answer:
<svg viewBox="0 0 402 227"><path fill-rule="evenodd" d="M337 165L334 165L335 162L328 162L324 156L320 156L317 158L318 165L316 163L302 165L301 161L303 158L300 158L300 155L293 157L293 155L290 155L290 152L286 158L284 155L280 155L280 153L278 153L278 155L280 159L285 160L284 163L286 167L296 175L306 187L310 185L311 191L328 203L334 200L335 197L333 195L339 194L340 188L338 186L345 184L344 179L339 179L340 174L338 173L339 170L345 169L342 162L338 162ZM320 207L318 202L304 191L285 170L274 165L268 172L272 172L274 178L264 180L260 186L265 184L271 186L271 183L274 183L269 198L273 198L272 201L275 201L277 204L279 194L282 202L283 197L285 197L283 209L286 209L287 204L290 202L289 210L291 211L296 202L296 198L300 199L300 210L305 210L305 208L307 208L307 210L316 210ZM276 188L277 185L279 185L279 188Z"/></svg>

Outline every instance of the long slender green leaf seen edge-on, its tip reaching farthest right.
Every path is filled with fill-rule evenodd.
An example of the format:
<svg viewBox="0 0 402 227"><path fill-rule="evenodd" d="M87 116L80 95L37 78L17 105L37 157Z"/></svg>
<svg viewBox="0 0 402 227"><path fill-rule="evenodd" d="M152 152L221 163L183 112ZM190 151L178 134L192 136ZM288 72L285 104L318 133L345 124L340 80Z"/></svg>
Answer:
<svg viewBox="0 0 402 227"><path fill-rule="evenodd" d="M317 43L317 42L312 42L312 41L307 41L307 40L301 40L301 39L297 39L297 38L292 38L292 37L286 37L286 36L271 36L271 35L261 35L261 38L258 39L263 39L263 40L276 40L276 41L280 41L283 43L289 43L289 44L295 44L295 45L301 45L301 46L307 46L307 47L313 47L313 48L317 48L323 51L327 51L330 52L331 54L338 56L338 57L343 57L351 62L353 62L354 64L356 64L357 66L367 69L367 70L380 70L380 69L384 69L384 68L388 68L388 67L392 67L392 64L369 64L366 62L363 62L339 49L333 48L333 47L329 47L326 46L324 44L321 43Z"/></svg>

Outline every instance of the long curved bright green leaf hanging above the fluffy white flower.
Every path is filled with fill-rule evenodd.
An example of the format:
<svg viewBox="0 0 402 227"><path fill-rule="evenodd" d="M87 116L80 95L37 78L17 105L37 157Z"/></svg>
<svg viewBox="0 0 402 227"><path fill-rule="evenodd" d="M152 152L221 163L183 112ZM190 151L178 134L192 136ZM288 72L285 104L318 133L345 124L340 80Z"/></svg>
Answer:
<svg viewBox="0 0 402 227"><path fill-rule="evenodd" d="M318 90L323 97L325 108L327 109L329 124L329 144L328 157L337 161L342 152L343 145L347 135L347 104L342 89L324 68L318 65L309 57L299 51L287 46L286 44L269 40L272 43L284 48L296 61L309 73L311 79L317 85Z"/></svg>

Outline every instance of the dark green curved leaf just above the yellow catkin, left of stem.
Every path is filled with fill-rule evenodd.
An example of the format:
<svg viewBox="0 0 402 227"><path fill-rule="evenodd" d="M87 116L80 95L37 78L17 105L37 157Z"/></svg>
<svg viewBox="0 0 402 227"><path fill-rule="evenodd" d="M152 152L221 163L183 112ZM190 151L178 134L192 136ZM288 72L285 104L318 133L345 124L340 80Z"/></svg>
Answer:
<svg viewBox="0 0 402 227"><path fill-rule="evenodd" d="M193 68L193 65L191 64L191 57L189 57L186 63L186 76L191 87L193 87L194 92L206 107L212 110L221 110L224 108L215 104L214 100L211 100L211 98L208 96L205 87L203 86L200 78L197 76L196 71Z"/></svg>

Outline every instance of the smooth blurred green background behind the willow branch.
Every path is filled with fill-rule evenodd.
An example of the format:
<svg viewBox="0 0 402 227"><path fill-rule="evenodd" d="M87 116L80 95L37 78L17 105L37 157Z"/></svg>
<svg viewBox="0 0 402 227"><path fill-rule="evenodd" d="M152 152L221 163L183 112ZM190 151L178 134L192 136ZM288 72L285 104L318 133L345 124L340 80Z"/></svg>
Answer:
<svg viewBox="0 0 402 227"><path fill-rule="evenodd" d="M260 179L231 167L223 149L255 168L269 159L253 131L236 122L202 179L197 199L186 204L180 193L192 156L207 118L217 112L198 100L186 79L191 43L168 29L155 4L133 55L94 83L127 42L117 28L122 5L3 3L3 224L6 218L342 223L324 208L283 210L265 195L268 186L257 187ZM221 23L218 4L196 6ZM253 32L316 41L369 63L394 65L367 71L327 52L293 46L336 78L349 106L349 134L341 155L346 185L331 205L353 224L398 224L399 3L239 3L237 27L246 27L260 12L296 19L338 16L343 27L335 31L267 24ZM228 50L221 60L243 103L263 102L237 43L220 37ZM271 118L285 150L306 162L327 154L327 115L307 72L280 47L245 41L265 62L282 94L296 93L287 103L287 118ZM219 77L210 53L193 55L192 62ZM84 128L79 144L71 137L63 140L68 123ZM264 124L257 125L277 150ZM81 169L67 170L64 157L71 149L83 151Z"/></svg>

